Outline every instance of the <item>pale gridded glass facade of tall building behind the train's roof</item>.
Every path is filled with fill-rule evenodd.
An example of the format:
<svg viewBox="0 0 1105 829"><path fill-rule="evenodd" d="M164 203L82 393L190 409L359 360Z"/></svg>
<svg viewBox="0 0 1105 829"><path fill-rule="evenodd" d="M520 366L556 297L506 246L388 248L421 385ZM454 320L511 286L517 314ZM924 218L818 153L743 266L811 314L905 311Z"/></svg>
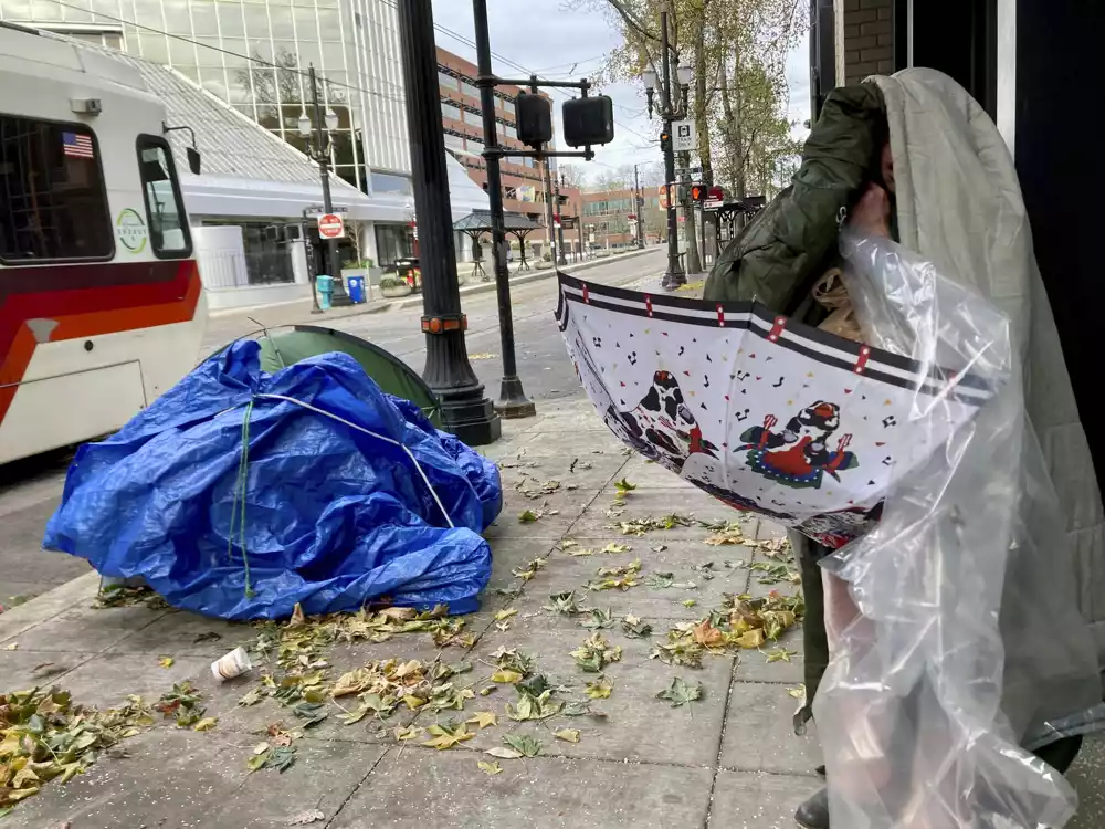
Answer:
<svg viewBox="0 0 1105 829"><path fill-rule="evenodd" d="M76 10L72 6L86 7ZM314 65L332 160L359 190L411 192L394 6L386 0L0 0L0 20L171 66L298 149Z"/></svg>

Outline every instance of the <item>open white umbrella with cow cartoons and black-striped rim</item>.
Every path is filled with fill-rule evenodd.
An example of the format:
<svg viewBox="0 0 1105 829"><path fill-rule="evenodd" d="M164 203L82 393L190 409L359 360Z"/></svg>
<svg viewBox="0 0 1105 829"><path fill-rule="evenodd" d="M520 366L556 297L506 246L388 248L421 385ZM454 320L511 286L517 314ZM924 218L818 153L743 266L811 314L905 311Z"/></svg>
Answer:
<svg viewBox="0 0 1105 829"><path fill-rule="evenodd" d="M964 370L923 367L760 303L559 282L568 354L614 434L830 547L870 529L894 482L993 395ZM947 416L925 417L936 401Z"/></svg>

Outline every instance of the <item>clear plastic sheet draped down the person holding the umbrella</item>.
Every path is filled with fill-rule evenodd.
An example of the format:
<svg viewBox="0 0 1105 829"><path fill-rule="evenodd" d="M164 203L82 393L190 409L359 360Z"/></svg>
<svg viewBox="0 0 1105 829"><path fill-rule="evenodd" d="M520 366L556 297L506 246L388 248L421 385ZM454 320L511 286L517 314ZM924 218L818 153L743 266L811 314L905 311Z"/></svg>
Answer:
<svg viewBox="0 0 1105 829"><path fill-rule="evenodd" d="M1074 791L1022 746L1096 727L1101 682L1010 323L894 242L845 233L842 251L867 343L993 397L822 562L832 825L1062 827ZM911 417L936 430L947 406L918 393Z"/></svg>

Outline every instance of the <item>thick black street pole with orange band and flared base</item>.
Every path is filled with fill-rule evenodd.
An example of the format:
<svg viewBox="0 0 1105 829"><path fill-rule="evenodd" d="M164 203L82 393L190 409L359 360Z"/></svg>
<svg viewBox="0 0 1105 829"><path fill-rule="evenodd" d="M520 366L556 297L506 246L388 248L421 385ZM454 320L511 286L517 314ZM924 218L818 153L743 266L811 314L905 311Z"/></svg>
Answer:
<svg viewBox="0 0 1105 829"><path fill-rule="evenodd" d="M471 445L492 443L503 423L476 379L464 346L467 319L461 312L456 249L449 201L449 171L441 113L427 101L439 99L438 53L430 0L399 3L399 39L403 59L407 123L410 129L414 210L419 218L422 262L422 377L441 401L449 431Z"/></svg>

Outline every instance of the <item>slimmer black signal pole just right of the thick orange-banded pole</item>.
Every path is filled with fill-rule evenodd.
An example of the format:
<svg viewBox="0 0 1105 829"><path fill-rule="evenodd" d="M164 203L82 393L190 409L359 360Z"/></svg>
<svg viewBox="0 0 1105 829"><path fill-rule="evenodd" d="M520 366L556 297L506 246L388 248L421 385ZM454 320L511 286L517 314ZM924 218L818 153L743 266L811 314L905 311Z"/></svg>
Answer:
<svg viewBox="0 0 1105 829"><path fill-rule="evenodd" d="M403 2L411 0L401 0ZM419 0L420 3L429 6L430 0ZM491 207L491 243L492 256L495 262L495 291L498 295L498 328L499 339L503 348L503 386L499 398L495 402L495 410L504 418L529 418L537 414L537 407L534 401L526 397L522 388L522 380L518 378L518 364L514 354L514 315L511 311L511 274L506 270L505 246L506 232L503 220L503 176L499 171L498 138L495 126L495 87L494 77L491 71L491 35L487 33L487 0L472 0L472 17L475 19L476 29L476 65L480 73L480 108L483 109L484 122L484 160L487 162L487 201ZM432 44L433 31L429 32ZM429 52L433 54L431 45ZM436 60L434 59L434 83L436 83ZM407 99L411 101L411 88L407 87ZM420 102L438 101L436 95L419 96L414 98ZM410 106L410 104L409 104ZM424 107L423 108L428 108ZM434 104L432 114L438 116L440 133L441 114ZM441 139L444 143L444 138ZM444 161L442 161L444 164ZM548 170L546 159L546 170ZM442 178L443 186L448 189L445 179ZM446 225L448 227L448 225Z"/></svg>

